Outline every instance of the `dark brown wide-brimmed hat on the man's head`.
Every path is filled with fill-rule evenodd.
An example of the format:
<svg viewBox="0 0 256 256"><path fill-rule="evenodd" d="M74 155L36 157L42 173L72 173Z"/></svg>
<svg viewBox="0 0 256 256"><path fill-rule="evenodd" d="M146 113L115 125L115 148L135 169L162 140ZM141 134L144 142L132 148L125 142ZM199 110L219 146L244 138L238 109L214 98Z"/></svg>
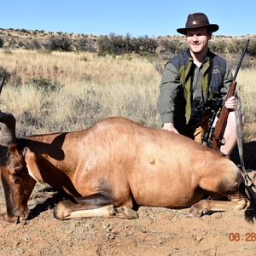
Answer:
<svg viewBox="0 0 256 256"><path fill-rule="evenodd" d="M186 35L187 29L190 28L197 28L197 27L202 27L202 26L207 26L211 29L212 32L218 31L218 25L217 24L210 24L207 15L202 14L202 13L195 13L195 14L190 14L188 16L186 25L184 28L178 28L177 32Z"/></svg>

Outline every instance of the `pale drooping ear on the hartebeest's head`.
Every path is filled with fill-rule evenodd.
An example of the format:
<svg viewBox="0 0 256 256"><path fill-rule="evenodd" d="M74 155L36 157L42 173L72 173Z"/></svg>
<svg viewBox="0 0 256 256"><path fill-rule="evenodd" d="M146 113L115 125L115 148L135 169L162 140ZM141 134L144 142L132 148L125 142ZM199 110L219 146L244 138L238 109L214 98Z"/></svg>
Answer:
<svg viewBox="0 0 256 256"><path fill-rule="evenodd" d="M26 168L29 175L35 179L38 183L44 184L43 177L40 173L40 169L38 166L37 156L30 148L23 148L22 154L24 156L24 160L26 162Z"/></svg>

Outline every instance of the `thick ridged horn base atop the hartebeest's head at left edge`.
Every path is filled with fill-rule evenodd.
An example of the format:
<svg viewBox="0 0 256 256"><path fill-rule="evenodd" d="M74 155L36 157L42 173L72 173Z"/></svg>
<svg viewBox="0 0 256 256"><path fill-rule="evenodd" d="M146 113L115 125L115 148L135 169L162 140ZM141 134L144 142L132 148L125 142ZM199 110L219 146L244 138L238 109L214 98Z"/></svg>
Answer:
<svg viewBox="0 0 256 256"><path fill-rule="evenodd" d="M3 113L0 111L0 144L9 146L16 142L15 126L16 119L12 113Z"/></svg>

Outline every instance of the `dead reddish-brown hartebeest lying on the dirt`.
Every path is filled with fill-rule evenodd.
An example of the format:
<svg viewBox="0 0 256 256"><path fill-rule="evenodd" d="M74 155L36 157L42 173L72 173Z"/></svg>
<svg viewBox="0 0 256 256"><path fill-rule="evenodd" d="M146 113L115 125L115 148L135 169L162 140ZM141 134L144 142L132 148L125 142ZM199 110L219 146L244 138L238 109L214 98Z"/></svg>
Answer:
<svg viewBox="0 0 256 256"><path fill-rule="evenodd" d="M0 123L3 215L9 222L27 217L36 182L73 196L74 202L55 207L60 219L137 218L135 206L191 207L201 216L250 203L232 161L169 131L110 118L84 131L17 138L12 114L0 112ZM202 200L204 195L230 201Z"/></svg>

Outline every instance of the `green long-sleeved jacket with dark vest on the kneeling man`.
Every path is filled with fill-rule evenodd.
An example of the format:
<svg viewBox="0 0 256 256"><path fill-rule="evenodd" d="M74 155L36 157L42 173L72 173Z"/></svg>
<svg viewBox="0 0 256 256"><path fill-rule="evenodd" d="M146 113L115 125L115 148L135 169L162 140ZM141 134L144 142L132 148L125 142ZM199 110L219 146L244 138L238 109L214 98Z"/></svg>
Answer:
<svg viewBox="0 0 256 256"><path fill-rule="evenodd" d="M195 102L223 97L232 83L226 61L210 50L201 67L196 67L189 49L166 63L160 82L157 108L162 123L189 123Z"/></svg>

